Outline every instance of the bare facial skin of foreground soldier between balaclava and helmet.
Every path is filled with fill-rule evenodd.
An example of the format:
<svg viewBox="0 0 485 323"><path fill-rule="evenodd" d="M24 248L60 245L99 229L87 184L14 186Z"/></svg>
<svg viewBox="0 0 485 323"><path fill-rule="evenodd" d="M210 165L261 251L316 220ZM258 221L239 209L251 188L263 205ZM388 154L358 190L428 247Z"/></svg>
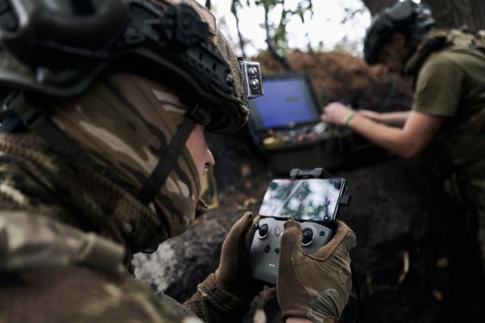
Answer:
<svg viewBox="0 0 485 323"><path fill-rule="evenodd" d="M207 146L206 138L204 138L204 126L200 124L195 126L195 129L192 130L192 133L188 137L186 147L190 151L195 167L197 167L197 171L199 172L200 183L202 183L204 169L213 167L215 163L211 150Z"/></svg>

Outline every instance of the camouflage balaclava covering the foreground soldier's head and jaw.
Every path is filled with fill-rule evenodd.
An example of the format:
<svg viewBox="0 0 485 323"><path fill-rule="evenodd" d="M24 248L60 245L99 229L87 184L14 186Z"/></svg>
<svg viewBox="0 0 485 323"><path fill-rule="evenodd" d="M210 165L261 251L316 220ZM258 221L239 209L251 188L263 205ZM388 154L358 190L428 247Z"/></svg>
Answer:
<svg viewBox="0 0 485 323"><path fill-rule="evenodd" d="M141 76L114 74L56 107L52 119L99 165L139 192L189 108L179 94ZM188 229L199 194L199 173L184 148L149 205L165 222L169 237Z"/></svg>

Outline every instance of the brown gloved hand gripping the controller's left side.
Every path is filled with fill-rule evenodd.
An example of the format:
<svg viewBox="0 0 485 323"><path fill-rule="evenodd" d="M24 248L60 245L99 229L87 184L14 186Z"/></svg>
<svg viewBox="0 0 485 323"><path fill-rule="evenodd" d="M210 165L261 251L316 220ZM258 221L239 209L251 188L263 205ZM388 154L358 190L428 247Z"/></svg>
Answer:
<svg viewBox="0 0 485 323"><path fill-rule="evenodd" d="M264 286L249 274L249 248L256 232L253 224L258 218L247 212L232 226L222 243L219 267L215 270L215 280L222 288L247 301Z"/></svg>

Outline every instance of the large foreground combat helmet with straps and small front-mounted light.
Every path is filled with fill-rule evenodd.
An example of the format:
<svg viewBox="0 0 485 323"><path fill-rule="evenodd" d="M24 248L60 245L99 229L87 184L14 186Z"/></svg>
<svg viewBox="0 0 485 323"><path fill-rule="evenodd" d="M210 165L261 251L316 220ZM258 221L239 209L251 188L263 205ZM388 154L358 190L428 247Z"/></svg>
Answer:
<svg viewBox="0 0 485 323"><path fill-rule="evenodd" d="M211 133L236 131L247 121L247 100L263 94L259 65L234 56L215 17L195 0L6 0L0 5L2 113L17 117L69 157L99 168L52 122L49 110L36 104L44 98L76 97L99 76L115 72L168 79L190 93L194 105L138 194L144 204L165 183L196 124L206 124Z"/></svg>

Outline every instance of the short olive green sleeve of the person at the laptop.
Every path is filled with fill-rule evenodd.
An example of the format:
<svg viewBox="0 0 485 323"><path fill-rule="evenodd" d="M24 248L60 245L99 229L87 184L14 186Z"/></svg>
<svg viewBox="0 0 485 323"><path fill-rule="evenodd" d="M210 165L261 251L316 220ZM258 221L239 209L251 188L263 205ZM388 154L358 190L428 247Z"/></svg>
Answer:
<svg viewBox="0 0 485 323"><path fill-rule="evenodd" d="M452 117L461 95L463 70L450 58L432 56L418 74L413 110L427 115Z"/></svg>

